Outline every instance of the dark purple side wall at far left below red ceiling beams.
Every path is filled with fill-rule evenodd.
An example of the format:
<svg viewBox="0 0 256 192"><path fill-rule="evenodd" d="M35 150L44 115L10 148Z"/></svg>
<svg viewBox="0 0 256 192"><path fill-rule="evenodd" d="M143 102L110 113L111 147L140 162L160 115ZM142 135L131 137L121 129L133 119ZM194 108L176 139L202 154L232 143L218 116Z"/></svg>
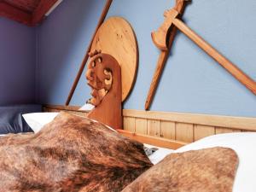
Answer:
<svg viewBox="0 0 256 192"><path fill-rule="evenodd" d="M0 105L35 102L36 32L0 18Z"/></svg>

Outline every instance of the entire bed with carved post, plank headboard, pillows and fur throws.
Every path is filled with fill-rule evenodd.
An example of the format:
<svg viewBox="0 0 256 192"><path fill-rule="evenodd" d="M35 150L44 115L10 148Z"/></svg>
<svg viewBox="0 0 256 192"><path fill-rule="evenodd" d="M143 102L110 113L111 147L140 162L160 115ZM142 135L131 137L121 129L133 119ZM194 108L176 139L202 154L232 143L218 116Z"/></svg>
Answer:
<svg viewBox="0 0 256 192"><path fill-rule="evenodd" d="M255 191L255 118L122 110L120 61L90 57L95 107L23 114L33 132L0 137L0 191Z"/></svg>

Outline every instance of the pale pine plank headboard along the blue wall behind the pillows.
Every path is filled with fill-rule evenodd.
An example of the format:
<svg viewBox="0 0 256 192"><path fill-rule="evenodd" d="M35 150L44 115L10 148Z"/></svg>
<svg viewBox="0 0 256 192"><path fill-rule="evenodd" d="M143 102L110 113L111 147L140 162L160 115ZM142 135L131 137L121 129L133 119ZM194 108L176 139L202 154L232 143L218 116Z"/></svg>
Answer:
<svg viewBox="0 0 256 192"><path fill-rule="evenodd" d="M44 111L88 114L74 106L45 105ZM241 131L256 131L256 118L123 109L120 132L143 143L179 148L202 137Z"/></svg>

